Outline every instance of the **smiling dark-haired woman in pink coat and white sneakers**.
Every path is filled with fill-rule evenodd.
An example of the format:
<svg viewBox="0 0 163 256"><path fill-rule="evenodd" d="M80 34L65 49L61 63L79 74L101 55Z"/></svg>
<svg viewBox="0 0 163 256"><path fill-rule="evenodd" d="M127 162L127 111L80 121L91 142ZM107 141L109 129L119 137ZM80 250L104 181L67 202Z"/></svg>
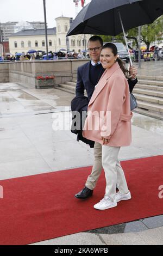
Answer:
<svg viewBox="0 0 163 256"><path fill-rule="evenodd" d="M99 80L87 109L83 137L101 144L102 166L106 188L104 198L94 205L105 210L117 206L117 202L131 198L123 169L118 161L121 147L131 143L130 93L126 79L128 71L117 55L114 44L105 44L101 63L106 69ZM119 192L116 193L116 185Z"/></svg>

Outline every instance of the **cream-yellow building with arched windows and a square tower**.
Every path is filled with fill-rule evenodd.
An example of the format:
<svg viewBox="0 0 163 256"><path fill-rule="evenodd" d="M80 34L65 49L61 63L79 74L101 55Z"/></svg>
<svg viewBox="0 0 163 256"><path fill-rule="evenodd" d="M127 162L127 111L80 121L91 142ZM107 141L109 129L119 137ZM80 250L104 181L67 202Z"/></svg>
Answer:
<svg viewBox="0 0 163 256"><path fill-rule="evenodd" d="M69 51L79 52L87 48L87 41L91 35L66 34L70 29L72 18L58 17L55 19L56 28L48 28L48 50L58 52L61 48ZM30 49L46 51L45 29L23 29L9 36L9 48L12 54L16 52L26 53Z"/></svg>

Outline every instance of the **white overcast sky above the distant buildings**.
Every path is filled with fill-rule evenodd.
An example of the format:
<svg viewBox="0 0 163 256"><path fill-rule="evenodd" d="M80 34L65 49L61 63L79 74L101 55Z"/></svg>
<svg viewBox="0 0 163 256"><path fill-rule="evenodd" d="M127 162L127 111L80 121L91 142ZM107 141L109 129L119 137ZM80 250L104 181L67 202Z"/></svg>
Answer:
<svg viewBox="0 0 163 256"><path fill-rule="evenodd" d="M86 0L85 4L91 2ZM81 10L79 1L79 10ZM75 17L73 0L46 0L48 28L55 27L55 18ZM43 0L0 0L0 22L43 21Z"/></svg>

